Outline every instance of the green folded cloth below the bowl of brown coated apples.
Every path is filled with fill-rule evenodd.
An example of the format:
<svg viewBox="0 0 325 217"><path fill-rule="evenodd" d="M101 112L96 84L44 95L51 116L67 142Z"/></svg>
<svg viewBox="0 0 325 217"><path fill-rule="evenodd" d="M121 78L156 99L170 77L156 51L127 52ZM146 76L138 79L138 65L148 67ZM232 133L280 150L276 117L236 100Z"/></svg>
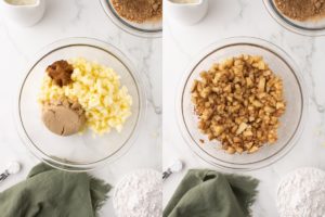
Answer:
<svg viewBox="0 0 325 217"><path fill-rule="evenodd" d="M164 210L164 217L247 217L259 181L213 170L190 170Z"/></svg>

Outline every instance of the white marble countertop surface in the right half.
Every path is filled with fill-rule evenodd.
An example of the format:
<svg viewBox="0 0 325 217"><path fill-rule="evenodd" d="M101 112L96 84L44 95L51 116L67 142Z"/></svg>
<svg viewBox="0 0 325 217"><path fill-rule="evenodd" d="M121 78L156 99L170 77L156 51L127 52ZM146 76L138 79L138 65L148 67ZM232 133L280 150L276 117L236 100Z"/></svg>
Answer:
<svg viewBox="0 0 325 217"><path fill-rule="evenodd" d="M272 41L296 61L310 91L308 123L294 150L272 166L243 173L261 180L253 216L275 217L278 215L274 195L281 177L301 166L325 169L325 37L311 38L288 31L270 16L262 0L210 0L209 3L208 15L195 26L180 26L165 15L162 167L166 168L173 159L181 158L185 162L186 169L212 168L187 149L176 122L176 92L191 60L208 44L226 37L252 36ZM165 205L184 174L185 170L164 183Z"/></svg>

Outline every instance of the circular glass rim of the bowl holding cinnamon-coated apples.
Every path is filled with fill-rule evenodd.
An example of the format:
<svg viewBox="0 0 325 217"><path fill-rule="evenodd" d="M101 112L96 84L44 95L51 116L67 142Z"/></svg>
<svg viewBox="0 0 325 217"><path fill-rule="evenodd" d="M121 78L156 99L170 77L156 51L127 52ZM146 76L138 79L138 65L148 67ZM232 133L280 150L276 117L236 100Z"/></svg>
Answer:
<svg viewBox="0 0 325 217"><path fill-rule="evenodd" d="M262 48L263 50L266 50L269 52L272 52L275 54L277 58L283 60L290 68L291 72L294 73L294 76L296 77L296 80L299 85L300 89L300 94L301 94L301 115L300 115L300 120L296 127L295 132L292 136L288 139L286 142L286 145L282 148L280 151L277 151L275 154L258 161L257 163L245 163L245 164L236 164L236 163L229 163L224 161L217 159L216 157L211 156L208 154L206 151L204 151L195 140L192 138L191 133L187 130L187 126L184 122L183 117L183 95L184 95L184 88L187 84L187 79L191 77L194 68L203 61L205 60L206 56L210 55L211 53L222 50L226 47L232 47L232 46L238 46L238 44L248 44L248 46L255 46ZM302 77L302 74L297 66L297 64L294 62L294 60L280 47L276 44L266 41L261 38L257 37L246 37L246 36L240 36L240 37L230 37L230 38L224 38L221 39L217 42L213 42L203 49L199 54L192 60L192 63L186 67L186 71L181 79L179 90L177 92L176 97L176 118L178 123L179 130L181 131L181 136L184 140L184 142L190 146L192 152L194 152L199 158L202 158L204 162L216 166L221 169L229 169L229 170L255 170L255 169L260 169L268 167L275 162L280 161L283 158L286 154L288 154L291 149L297 144L297 141L299 140L300 136L302 135L304 125L306 125L306 119L308 115L308 104L309 104L309 94L308 94L308 87L306 85L306 81ZM281 53L281 54L280 54Z"/></svg>

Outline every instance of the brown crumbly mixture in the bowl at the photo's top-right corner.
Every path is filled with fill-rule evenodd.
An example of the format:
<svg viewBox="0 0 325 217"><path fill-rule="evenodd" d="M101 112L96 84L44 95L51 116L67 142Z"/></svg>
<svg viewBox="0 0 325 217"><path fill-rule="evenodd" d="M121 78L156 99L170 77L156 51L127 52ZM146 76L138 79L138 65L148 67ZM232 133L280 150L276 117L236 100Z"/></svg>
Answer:
<svg viewBox="0 0 325 217"><path fill-rule="evenodd" d="M296 21L317 20L325 16L325 0L274 0L276 8Z"/></svg>

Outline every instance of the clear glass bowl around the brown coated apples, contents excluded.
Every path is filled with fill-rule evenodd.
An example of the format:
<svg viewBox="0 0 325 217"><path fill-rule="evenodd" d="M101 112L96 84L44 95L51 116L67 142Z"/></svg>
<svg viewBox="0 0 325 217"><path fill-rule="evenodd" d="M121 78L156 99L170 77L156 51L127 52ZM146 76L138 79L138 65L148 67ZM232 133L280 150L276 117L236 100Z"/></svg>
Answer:
<svg viewBox="0 0 325 217"><path fill-rule="evenodd" d="M191 102L191 88L193 81L199 78L199 73L210 68L212 63L240 54L263 56L272 71L282 77L287 107L281 117L278 140L275 144L265 144L253 154L231 155L221 149L219 141L209 141L207 136L198 130L198 118ZM176 105L180 130L194 153L217 167L251 170L273 164L292 149L306 119L308 94L299 68L285 51L258 38L236 37L211 44L191 64L181 82ZM200 142L202 139L204 143Z"/></svg>

